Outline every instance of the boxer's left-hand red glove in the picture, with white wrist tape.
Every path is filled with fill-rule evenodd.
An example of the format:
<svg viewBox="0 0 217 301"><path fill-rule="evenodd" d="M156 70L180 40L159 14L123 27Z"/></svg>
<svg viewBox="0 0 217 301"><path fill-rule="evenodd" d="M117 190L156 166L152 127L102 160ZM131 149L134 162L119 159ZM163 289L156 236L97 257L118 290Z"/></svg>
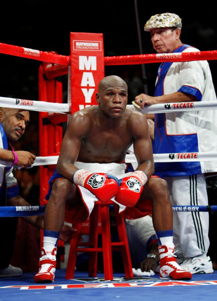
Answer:
<svg viewBox="0 0 217 301"><path fill-rule="evenodd" d="M118 192L118 178L107 173L90 173L80 169L74 173L73 182L89 190L102 203L107 203Z"/></svg>

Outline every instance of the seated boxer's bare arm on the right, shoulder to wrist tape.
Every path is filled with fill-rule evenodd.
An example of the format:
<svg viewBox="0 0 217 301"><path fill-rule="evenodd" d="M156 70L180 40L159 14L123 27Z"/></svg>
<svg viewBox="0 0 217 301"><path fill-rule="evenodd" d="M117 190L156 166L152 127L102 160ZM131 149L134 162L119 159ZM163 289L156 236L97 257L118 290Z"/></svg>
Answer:
<svg viewBox="0 0 217 301"><path fill-rule="evenodd" d="M136 170L145 172L148 179L154 173L154 159L152 152L151 139L148 131L148 123L146 117L137 113L132 120L131 130L134 137L134 153L138 161Z"/></svg>

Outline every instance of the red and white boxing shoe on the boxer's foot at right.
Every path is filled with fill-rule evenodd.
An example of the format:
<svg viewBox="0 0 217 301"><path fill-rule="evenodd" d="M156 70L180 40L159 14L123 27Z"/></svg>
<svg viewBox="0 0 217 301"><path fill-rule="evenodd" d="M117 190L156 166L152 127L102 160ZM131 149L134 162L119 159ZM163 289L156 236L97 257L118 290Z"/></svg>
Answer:
<svg viewBox="0 0 217 301"><path fill-rule="evenodd" d="M159 246L160 253L160 279L173 279L173 280L190 280L192 275L186 272L182 267L177 264L176 255L174 255L175 246L172 248L168 246Z"/></svg>

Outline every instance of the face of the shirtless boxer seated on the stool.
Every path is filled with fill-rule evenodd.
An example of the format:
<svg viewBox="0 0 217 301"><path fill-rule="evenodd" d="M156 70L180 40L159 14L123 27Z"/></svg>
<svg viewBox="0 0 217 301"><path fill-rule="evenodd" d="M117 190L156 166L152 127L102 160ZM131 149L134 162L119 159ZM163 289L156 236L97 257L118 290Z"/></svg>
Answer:
<svg viewBox="0 0 217 301"><path fill-rule="evenodd" d="M99 108L112 118L122 116L127 105L127 85L125 82L106 84L96 95Z"/></svg>

